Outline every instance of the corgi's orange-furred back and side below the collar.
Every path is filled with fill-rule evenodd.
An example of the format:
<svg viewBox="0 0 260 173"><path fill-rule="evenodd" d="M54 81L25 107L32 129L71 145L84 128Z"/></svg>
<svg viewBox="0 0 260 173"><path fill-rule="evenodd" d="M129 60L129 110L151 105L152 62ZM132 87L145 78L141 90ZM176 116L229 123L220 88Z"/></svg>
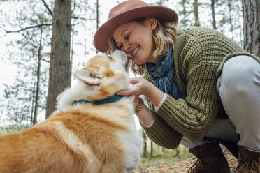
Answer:
<svg viewBox="0 0 260 173"><path fill-rule="evenodd" d="M101 107L116 110L111 108ZM118 117L122 124L106 119L113 114L93 112L60 112L21 133L1 136L0 172L123 172L124 146L117 133L129 128Z"/></svg>

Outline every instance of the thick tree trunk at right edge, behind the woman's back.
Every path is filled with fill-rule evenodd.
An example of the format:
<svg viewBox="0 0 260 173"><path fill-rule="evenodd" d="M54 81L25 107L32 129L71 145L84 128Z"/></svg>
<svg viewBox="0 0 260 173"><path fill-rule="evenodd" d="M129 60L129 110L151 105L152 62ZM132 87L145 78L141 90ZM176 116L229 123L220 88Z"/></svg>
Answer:
<svg viewBox="0 0 260 173"><path fill-rule="evenodd" d="M260 57L260 0L242 0L244 49Z"/></svg>

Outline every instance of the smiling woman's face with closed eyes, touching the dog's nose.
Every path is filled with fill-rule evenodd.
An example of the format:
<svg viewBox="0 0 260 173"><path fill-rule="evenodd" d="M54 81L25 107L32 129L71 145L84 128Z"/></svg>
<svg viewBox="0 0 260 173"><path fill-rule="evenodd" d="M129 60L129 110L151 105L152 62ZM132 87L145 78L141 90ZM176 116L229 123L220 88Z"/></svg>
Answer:
<svg viewBox="0 0 260 173"><path fill-rule="evenodd" d="M155 26L154 26L155 25ZM146 62L156 63L152 58L154 42L152 40L152 30L156 27L156 20L150 18L145 22L127 22L117 27L113 33L113 39L117 48L127 53L132 61L137 64Z"/></svg>

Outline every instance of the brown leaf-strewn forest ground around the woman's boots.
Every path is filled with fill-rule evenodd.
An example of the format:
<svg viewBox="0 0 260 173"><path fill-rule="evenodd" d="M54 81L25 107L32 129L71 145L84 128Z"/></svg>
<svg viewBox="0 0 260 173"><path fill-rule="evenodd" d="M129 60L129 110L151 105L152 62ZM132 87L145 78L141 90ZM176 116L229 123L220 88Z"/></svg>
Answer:
<svg viewBox="0 0 260 173"><path fill-rule="evenodd" d="M237 160L233 155L222 146L222 150L224 152L224 156L226 156L226 160L229 162L229 166L231 167L231 173L236 172ZM187 160L183 160L177 163L153 163L149 165L145 165L145 163L141 163L140 168L134 173L187 173L189 167L192 167L196 163L196 158L189 158ZM210 172L209 172L210 173Z"/></svg>

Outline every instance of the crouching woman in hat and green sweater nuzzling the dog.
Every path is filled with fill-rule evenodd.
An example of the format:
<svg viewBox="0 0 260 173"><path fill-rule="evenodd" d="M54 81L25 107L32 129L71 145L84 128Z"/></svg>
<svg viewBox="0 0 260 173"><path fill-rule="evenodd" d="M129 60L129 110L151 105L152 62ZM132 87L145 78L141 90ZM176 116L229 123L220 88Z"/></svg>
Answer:
<svg viewBox="0 0 260 173"><path fill-rule="evenodd" d="M117 94L145 96L149 108L136 99L145 133L168 149L185 145L198 157L189 172L230 172L211 140L219 139L238 143L238 172L260 173L259 57L218 31L177 23L174 10L138 0L110 10L94 36L96 49L123 50L133 73L143 75Z"/></svg>

